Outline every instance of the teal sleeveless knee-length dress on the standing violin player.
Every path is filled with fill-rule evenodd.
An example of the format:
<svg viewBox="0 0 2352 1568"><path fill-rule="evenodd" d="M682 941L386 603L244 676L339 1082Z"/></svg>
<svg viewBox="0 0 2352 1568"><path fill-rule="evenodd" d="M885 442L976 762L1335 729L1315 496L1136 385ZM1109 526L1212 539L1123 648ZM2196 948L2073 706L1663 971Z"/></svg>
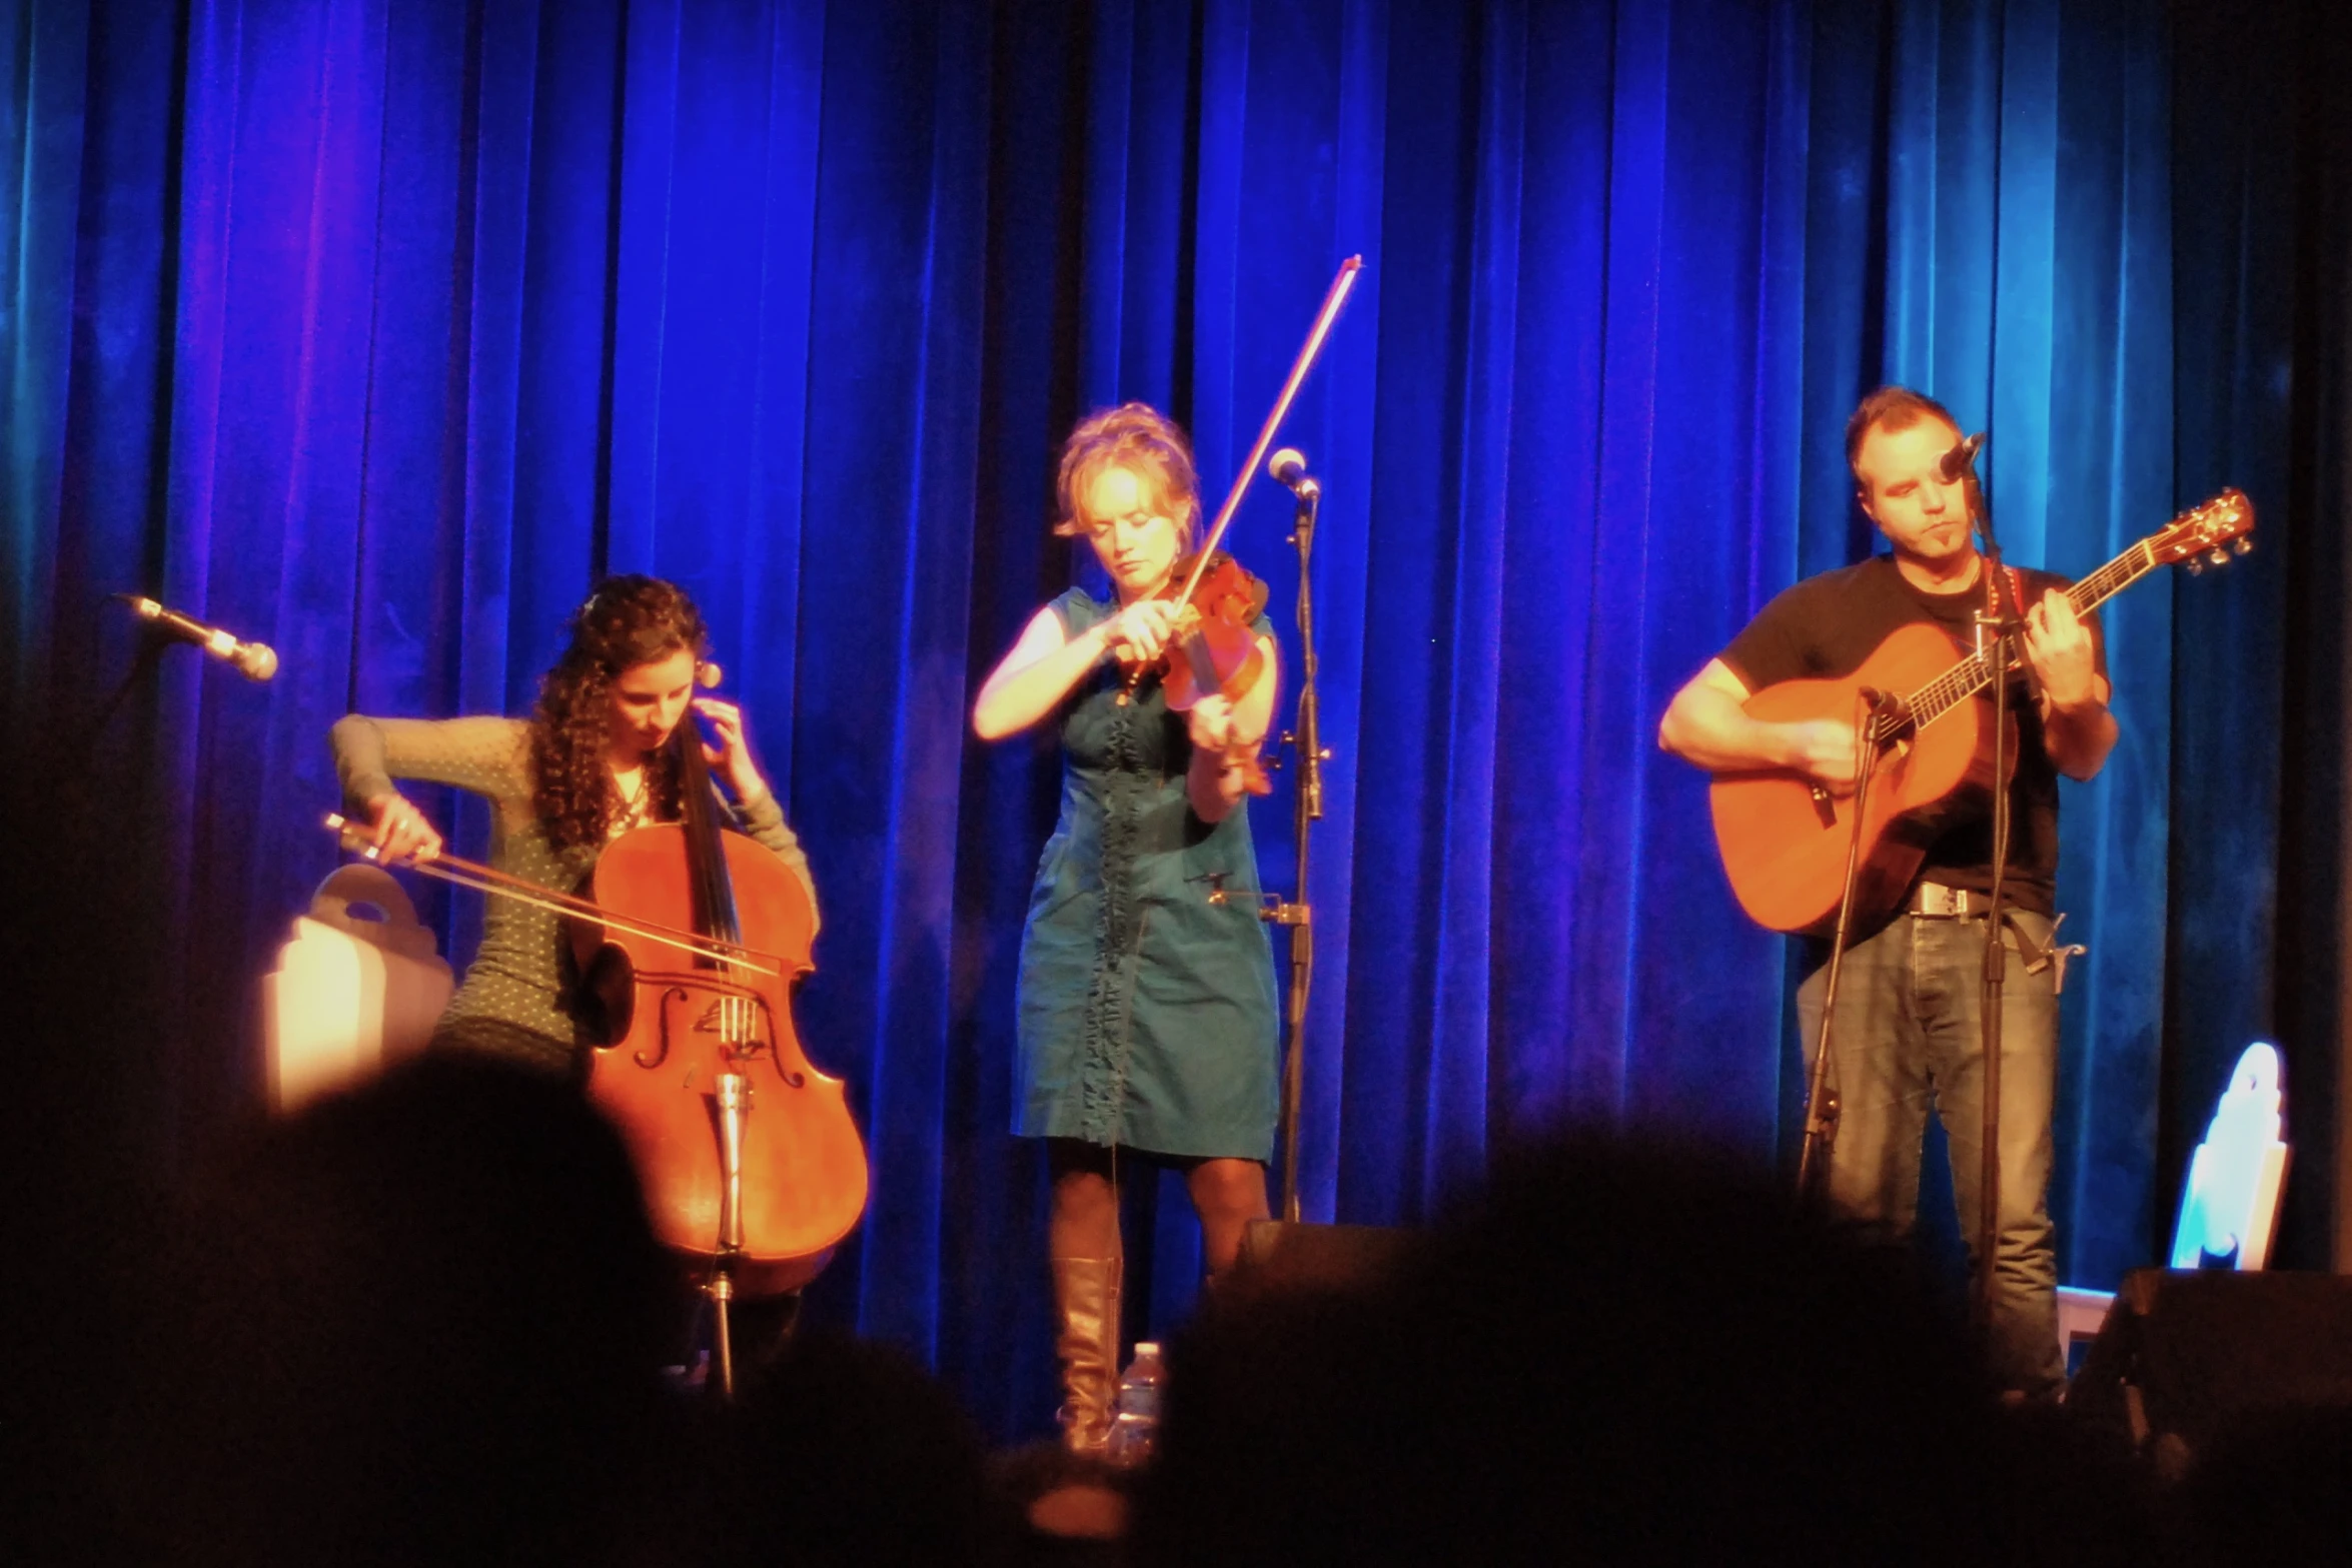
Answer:
<svg viewBox="0 0 2352 1568"><path fill-rule="evenodd" d="M1068 637L1115 614L1077 588L1051 609ZM1275 959L1247 802L1214 825L1195 816L1183 715L1157 675L1131 703L1120 691L1105 661L1058 710L1061 820L1021 933L1014 1131L1263 1161Z"/></svg>

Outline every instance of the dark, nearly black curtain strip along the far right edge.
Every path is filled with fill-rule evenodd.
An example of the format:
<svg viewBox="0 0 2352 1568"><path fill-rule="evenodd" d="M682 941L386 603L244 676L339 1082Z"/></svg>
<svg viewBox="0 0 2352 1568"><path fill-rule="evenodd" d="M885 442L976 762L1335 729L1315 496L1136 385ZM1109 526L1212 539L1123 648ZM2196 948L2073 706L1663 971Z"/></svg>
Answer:
<svg viewBox="0 0 2352 1568"><path fill-rule="evenodd" d="M2157 1171L2187 1164L2246 1041L2279 1041L2296 1154L2274 1255L2338 1272L2352 1267L2347 71L2345 7L2173 12L2178 484L2183 498L2239 484L2260 524L2232 569L2249 581L2178 599Z"/></svg>

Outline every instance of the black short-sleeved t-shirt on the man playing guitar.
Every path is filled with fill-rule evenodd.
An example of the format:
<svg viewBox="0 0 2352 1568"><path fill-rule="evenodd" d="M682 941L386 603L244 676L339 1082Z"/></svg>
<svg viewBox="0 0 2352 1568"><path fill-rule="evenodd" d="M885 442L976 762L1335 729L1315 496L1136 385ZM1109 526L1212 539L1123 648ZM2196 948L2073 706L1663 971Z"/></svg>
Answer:
<svg viewBox="0 0 2352 1568"><path fill-rule="evenodd" d="M2020 609L2030 609L2051 588L2067 588L2067 578L2049 571L2018 571L2023 578ZM1924 621L1952 637L1952 661L1957 663L1976 646L1976 614L1987 609L1987 578L1980 571L1959 592L1929 592L1915 588L1891 555L1872 555L1856 567L1823 571L1795 588L1783 590L1757 611L1722 661L1750 691L1762 691L1785 679L1823 679L1853 675L1863 661L1877 651L1886 637L1903 625ZM2091 628L2091 656L2100 675L2107 672L2107 642L2098 618L2086 616ZM1992 689L1978 693L1992 708ZM2009 802L2009 879L2002 896L2023 910L2053 914L2058 907L2058 769L2042 745L2042 712L2025 696L2025 682L2011 684L2011 712L2018 717L2018 771ZM1992 886L1992 811L1990 802L1966 811L1938 837L1919 867L1926 882L1943 882L1959 889Z"/></svg>

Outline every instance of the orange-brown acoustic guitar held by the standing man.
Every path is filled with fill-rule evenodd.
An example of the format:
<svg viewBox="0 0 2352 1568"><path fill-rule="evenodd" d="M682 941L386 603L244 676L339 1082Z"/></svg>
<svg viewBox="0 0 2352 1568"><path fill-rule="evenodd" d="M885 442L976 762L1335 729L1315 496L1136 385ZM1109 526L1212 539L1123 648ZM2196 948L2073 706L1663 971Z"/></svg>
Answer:
<svg viewBox="0 0 2352 1568"><path fill-rule="evenodd" d="M2225 489L2180 512L2067 590L2077 614L2105 604L2157 567L2227 562L2251 545L2253 503ZM2011 670L2023 665L2023 651ZM1863 712L1863 691L1898 691L1900 703L1863 719L1877 752L1853 886L1856 922L1891 914L1929 846L1959 820L1955 802L1992 788L1987 654L1952 663L1952 639L1933 625L1898 628L1863 668L1835 679L1792 679L1748 698L1757 719L1839 719ZM2016 741L2004 748L2016 764ZM1708 790L1724 875L1748 914L1773 931L1828 931L1846 886L1853 797L1832 795L1804 773L1757 769L1717 773ZM1863 924L1867 929L1867 924Z"/></svg>

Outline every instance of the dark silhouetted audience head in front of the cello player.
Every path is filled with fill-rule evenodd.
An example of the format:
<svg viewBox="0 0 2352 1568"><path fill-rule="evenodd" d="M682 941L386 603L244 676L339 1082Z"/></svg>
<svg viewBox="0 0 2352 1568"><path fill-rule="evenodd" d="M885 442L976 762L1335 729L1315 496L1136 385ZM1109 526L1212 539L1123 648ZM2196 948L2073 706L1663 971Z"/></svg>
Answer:
<svg viewBox="0 0 2352 1568"><path fill-rule="evenodd" d="M162 1295L172 1561L595 1561L659 1446L670 1267L576 1091L435 1053L259 1128Z"/></svg>

